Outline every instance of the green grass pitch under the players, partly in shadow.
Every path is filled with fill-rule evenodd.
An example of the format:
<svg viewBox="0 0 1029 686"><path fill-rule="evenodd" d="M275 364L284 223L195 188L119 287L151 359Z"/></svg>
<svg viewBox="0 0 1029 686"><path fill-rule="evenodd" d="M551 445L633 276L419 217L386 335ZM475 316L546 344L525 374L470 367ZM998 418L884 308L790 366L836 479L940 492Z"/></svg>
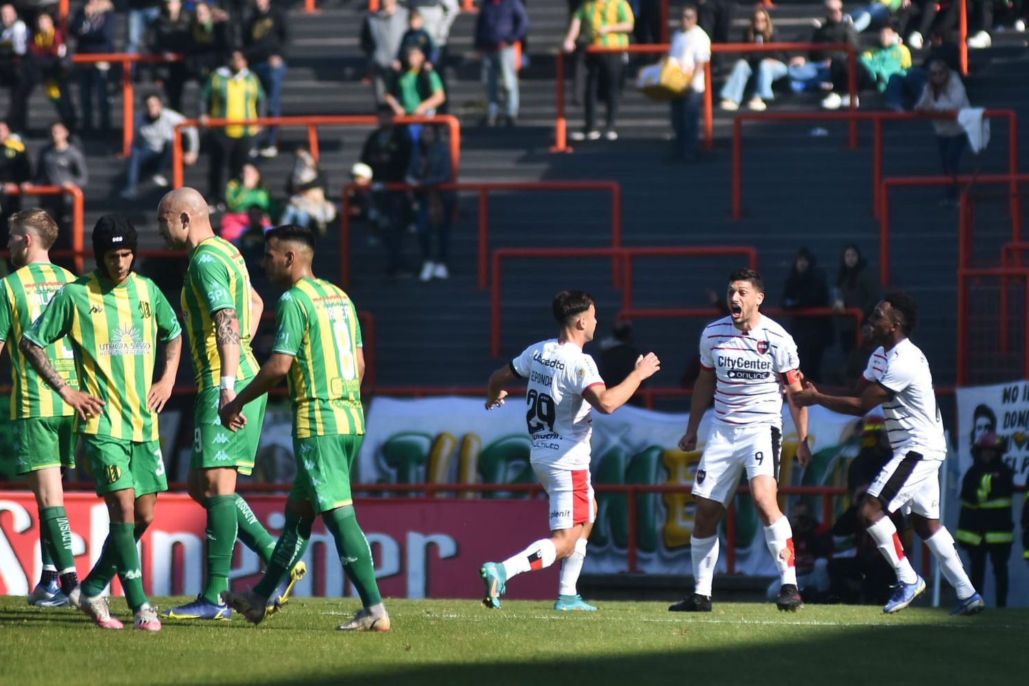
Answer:
<svg viewBox="0 0 1029 686"><path fill-rule="evenodd" d="M161 607L181 599L155 599ZM74 610L0 598L0 684L1017 684L1029 671L1029 610L667 603L389 601L389 634L343 634L351 599L293 599L260 626L242 617L165 622L159 634L94 627ZM123 621L123 599L113 599Z"/></svg>

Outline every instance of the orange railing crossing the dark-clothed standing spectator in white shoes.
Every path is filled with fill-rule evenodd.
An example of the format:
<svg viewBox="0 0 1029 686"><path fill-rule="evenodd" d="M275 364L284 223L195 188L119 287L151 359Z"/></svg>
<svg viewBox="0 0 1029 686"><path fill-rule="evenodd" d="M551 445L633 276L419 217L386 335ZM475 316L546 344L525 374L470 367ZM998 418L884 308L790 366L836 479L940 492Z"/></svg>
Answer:
<svg viewBox="0 0 1029 686"><path fill-rule="evenodd" d="M411 186L404 183L386 184L389 190L418 190L424 186ZM432 186L438 190L470 190L478 193L478 287L489 286L489 250L490 250L490 191L608 191L611 195L611 247L622 245L622 186L614 181L476 181L446 183ZM342 229L340 250L340 283L344 289L350 288L350 242L351 222L350 205L355 191L367 190L366 186L347 185L343 187L343 211L340 222ZM617 269L615 269L617 279Z"/></svg>

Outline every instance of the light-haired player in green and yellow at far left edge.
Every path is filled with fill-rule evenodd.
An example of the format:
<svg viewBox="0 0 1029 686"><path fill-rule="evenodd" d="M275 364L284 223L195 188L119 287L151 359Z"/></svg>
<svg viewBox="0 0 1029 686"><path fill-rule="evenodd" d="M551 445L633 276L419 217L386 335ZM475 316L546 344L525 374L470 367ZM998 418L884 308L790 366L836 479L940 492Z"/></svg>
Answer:
<svg viewBox="0 0 1029 686"><path fill-rule="evenodd" d="M7 247L17 270L0 281L0 350L11 341L14 460L17 473L26 475L36 496L43 557L43 574L29 594L29 605L58 608L68 605L68 593L78 585L61 486L61 471L75 466L74 410L43 384L17 346L25 329L75 275L50 263L47 251L58 238L58 225L48 214L39 209L16 212L9 226ZM77 389L75 359L68 342L58 340L46 347L45 354L62 383Z"/></svg>

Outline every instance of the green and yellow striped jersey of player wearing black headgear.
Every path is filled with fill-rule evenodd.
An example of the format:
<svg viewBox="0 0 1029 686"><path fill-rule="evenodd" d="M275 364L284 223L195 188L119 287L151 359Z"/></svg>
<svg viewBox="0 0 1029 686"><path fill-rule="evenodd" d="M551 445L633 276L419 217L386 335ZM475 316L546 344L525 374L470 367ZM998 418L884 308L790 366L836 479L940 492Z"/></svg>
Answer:
<svg viewBox="0 0 1029 686"><path fill-rule="evenodd" d="M97 272L58 291L25 337L48 346L68 336L81 390L106 404L79 433L118 440L157 440L157 416L146 406L158 340L182 332L156 285L138 274L115 286Z"/></svg>

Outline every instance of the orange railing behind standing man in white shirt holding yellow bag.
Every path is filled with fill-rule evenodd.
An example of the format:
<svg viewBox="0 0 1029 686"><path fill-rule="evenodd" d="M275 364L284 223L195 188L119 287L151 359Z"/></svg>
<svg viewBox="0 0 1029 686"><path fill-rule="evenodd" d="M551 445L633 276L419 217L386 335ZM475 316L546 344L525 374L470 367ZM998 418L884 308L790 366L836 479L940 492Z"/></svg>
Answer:
<svg viewBox="0 0 1029 686"><path fill-rule="evenodd" d="M665 22L665 26L668 23ZM654 53L665 55L671 48L668 43L652 45L628 45L626 47L600 47L591 45L587 52L632 52L632 53ZM856 112L857 99L857 53L853 45L847 43L768 43L757 45L752 43L715 43L711 45L711 52L775 52L780 50L846 50L847 52L847 80L848 91L851 95L850 107L852 112ZM704 68L704 141L710 149L714 145L714 104L711 95L711 63L707 63ZM565 53L558 52L555 70L555 80L557 82L557 115L554 122L554 147L552 152L571 152L568 145L568 119L565 114ZM851 146L857 145L857 124L851 124Z"/></svg>

